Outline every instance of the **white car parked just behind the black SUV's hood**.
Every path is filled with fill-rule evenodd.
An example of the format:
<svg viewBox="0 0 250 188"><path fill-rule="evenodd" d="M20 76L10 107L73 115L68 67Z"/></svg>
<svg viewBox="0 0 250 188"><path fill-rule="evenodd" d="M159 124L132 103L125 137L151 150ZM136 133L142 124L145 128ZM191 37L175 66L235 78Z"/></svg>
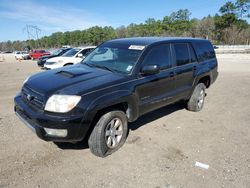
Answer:
<svg viewBox="0 0 250 188"><path fill-rule="evenodd" d="M48 59L44 64L44 68L49 70L80 63L95 48L96 46L72 48L62 56Z"/></svg>

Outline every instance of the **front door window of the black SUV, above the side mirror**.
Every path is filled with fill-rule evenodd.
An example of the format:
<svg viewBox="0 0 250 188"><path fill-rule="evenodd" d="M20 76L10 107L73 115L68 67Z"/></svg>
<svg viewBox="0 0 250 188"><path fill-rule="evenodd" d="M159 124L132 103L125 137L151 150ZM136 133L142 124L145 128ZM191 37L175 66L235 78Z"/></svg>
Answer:
<svg viewBox="0 0 250 188"><path fill-rule="evenodd" d="M169 44L153 47L144 59L144 65L158 64L161 69L172 67L171 51Z"/></svg>

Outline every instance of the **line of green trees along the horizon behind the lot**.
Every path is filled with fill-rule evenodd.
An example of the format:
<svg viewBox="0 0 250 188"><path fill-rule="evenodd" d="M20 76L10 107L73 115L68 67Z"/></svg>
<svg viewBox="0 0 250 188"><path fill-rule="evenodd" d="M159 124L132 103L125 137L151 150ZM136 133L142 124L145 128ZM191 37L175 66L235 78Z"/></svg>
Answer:
<svg viewBox="0 0 250 188"><path fill-rule="evenodd" d="M123 37L178 36L207 38L214 44L249 44L250 0L228 1L219 12L202 19L192 18L188 9L180 9L161 20L147 19L144 23L113 28L91 27L85 30L56 32L38 40L0 43L0 51L55 48L62 45L98 45L106 40Z"/></svg>

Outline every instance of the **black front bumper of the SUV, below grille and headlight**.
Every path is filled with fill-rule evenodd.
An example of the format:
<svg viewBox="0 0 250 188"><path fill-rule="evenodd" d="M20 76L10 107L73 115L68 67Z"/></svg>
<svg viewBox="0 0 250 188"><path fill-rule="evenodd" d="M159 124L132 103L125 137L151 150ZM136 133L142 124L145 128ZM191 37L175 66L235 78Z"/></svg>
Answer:
<svg viewBox="0 0 250 188"><path fill-rule="evenodd" d="M43 111L35 111L22 100L20 95L15 97L14 102L16 115L42 140L76 142L83 140L87 133L89 126L82 121L83 115L51 115ZM66 129L67 136L51 136L44 128Z"/></svg>

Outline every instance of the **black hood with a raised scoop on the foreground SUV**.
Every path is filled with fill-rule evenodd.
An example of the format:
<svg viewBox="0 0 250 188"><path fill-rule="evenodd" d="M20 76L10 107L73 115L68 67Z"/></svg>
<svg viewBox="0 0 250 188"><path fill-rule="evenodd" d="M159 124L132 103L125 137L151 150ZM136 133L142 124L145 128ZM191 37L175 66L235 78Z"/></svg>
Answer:
<svg viewBox="0 0 250 188"><path fill-rule="evenodd" d="M25 85L44 95L83 95L121 83L126 79L127 77L121 74L77 64L35 74L28 79Z"/></svg>

